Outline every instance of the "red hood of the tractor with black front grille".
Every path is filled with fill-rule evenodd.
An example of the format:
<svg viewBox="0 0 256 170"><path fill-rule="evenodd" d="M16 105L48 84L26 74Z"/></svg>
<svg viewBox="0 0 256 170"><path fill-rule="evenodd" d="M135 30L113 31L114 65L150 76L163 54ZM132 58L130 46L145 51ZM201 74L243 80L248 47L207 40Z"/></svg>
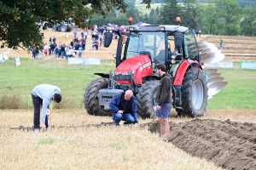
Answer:
<svg viewBox="0 0 256 170"><path fill-rule="evenodd" d="M114 79L118 82L122 81L119 83L132 83L131 78L133 77L137 84L141 84L143 77L152 74L151 59L147 54L140 54L120 63L114 70Z"/></svg>

